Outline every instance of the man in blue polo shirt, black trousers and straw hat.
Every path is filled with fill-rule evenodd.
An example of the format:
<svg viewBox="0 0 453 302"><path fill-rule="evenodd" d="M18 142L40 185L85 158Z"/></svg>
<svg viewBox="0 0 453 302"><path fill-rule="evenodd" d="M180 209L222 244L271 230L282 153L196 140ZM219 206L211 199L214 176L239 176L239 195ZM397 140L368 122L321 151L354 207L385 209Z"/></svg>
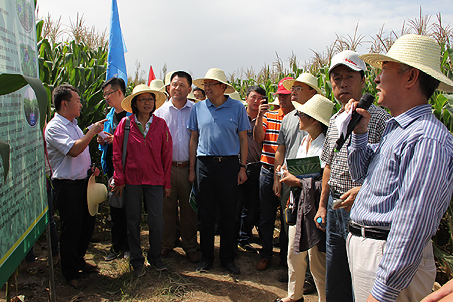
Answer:
<svg viewBox="0 0 453 302"><path fill-rule="evenodd" d="M211 68L193 84L203 88L207 99L196 103L187 128L189 180L197 180L198 215L201 221L200 246L203 254L197 271L208 270L214 262L214 222L220 207L220 263L239 274L236 253L235 213L238 186L247 180L247 130L250 123L244 105L225 93L235 89L226 82L223 70Z"/></svg>

